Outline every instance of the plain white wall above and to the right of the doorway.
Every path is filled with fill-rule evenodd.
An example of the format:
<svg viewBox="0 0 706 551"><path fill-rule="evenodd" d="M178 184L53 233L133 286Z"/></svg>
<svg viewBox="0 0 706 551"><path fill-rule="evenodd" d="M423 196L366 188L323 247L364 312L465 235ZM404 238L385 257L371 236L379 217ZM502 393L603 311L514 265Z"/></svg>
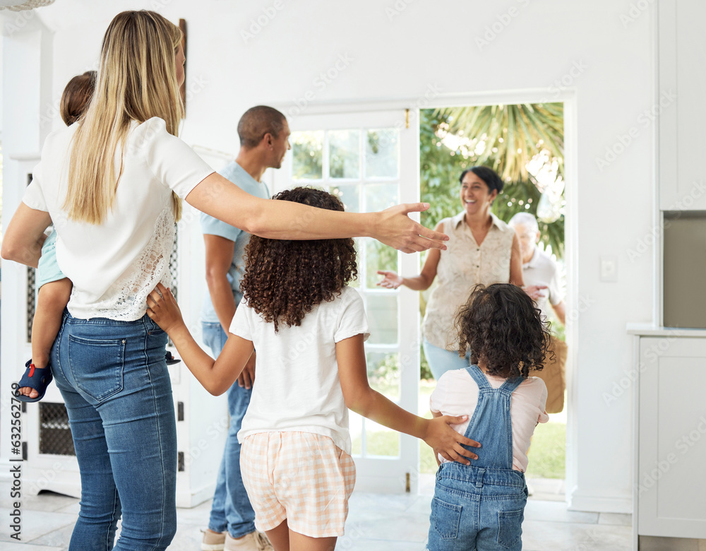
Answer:
<svg viewBox="0 0 706 551"><path fill-rule="evenodd" d="M94 14L92 24L85 11L78 19L69 16L68 9L83 4L88 0L44 8L44 21L56 28L54 102L68 78L94 66L102 33L118 11ZM628 258L627 251L652 231L655 129L643 127L638 117L656 98L654 4L645 2L645 11L632 12L627 0L145 0L141 5L164 5L164 16L186 19L187 83L194 92L182 137L218 150L237 150L235 127L248 107L287 107L307 91L313 102L415 98L430 85L443 95L487 98L531 90L533 98L539 93L554 100L563 80L562 97L573 98L567 158L573 160L568 194L574 211L568 224L578 245L571 251L578 286L568 304L568 317L578 328L570 391L569 422L576 439L571 499L579 509L629 510L631 391L609 403L606 396L613 398L614 384L631 366L626 322L652 320L652 249L637 259ZM275 15L263 17L266 24L245 40L242 32L256 30L252 20L268 10ZM479 47L477 38L492 25L501 32L487 35L489 43ZM322 85L319 73L340 56L349 63ZM443 95L436 101L443 103ZM297 128L296 117L290 117L290 126ZM633 127L636 137L624 152L597 166L606 147L618 143L620 150L618 136ZM616 283L599 280L602 255L618 257Z"/></svg>

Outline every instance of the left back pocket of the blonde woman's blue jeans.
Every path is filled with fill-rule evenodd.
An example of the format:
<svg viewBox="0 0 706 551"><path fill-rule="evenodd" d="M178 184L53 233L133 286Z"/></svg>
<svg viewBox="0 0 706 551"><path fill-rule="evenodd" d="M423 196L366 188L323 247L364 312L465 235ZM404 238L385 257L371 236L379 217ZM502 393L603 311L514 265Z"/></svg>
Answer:
<svg viewBox="0 0 706 551"><path fill-rule="evenodd" d="M68 361L79 390L95 401L123 389L125 340L68 336Z"/></svg>

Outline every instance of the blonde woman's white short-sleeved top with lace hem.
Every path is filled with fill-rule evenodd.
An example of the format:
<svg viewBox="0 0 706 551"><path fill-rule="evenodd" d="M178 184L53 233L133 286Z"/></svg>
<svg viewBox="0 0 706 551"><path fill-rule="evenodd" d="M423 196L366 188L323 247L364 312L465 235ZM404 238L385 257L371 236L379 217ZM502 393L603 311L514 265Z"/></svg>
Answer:
<svg viewBox="0 0 706 551"><path fill-rule="evenodd" d="M213 172L164 120L134 121L122 148L123 172L112 210L101 225L68 220L68 160L78 124L49 134L23 203L51 215L56 261L73 282L68 311L80 319L140 319L147 295L169 286L174 242L172 190L182 199ZM116 174L121 162L116 152Z"/></svg>

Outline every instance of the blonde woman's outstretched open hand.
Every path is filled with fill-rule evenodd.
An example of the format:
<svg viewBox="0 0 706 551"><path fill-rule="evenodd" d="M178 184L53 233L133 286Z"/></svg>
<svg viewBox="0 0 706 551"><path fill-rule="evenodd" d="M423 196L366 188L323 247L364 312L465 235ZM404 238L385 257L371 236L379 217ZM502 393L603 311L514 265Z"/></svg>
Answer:
<svg viewBox="0 0 706 551"><path fill-rule="evenodd" d="M376 213L378 221L373 227L372 237L402 252L419 252L426 249L446 249L444 241L448 235L429 230L414 222L409 213L426 211L429 203L404 203Z"/></svg>

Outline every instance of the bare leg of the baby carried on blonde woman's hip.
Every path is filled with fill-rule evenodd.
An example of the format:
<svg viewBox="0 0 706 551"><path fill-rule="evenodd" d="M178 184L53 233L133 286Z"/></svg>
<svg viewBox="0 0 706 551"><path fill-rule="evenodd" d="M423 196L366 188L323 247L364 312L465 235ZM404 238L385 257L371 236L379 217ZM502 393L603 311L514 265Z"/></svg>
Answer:
<svg viewBox="0 0 706 551"><path fill-rule="evenodd" d="M73 283L68 278L45 283L37 295L35 318L32 321L32 363L44 369L49 365L49 355L56 335L61 328L61 316L71 297ZM19 389L20 394L36 398L39 393L30 386Z"/></svg>

